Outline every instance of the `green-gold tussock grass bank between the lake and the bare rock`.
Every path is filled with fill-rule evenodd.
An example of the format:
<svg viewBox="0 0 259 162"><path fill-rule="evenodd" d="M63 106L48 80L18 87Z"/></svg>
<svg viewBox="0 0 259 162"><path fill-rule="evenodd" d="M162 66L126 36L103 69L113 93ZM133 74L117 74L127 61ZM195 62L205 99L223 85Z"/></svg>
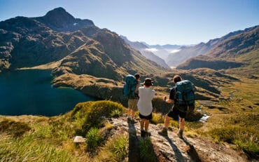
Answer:
<svg viewBox="0 0 259 162"><path fill-rule="evenodd" d="M103 148L106 149L102 154L111 157L105 158L106 161L122 161L128 151L127 136L113 138L113 125L106 118L121 115L123 111L125 107L121 104L99 101L78 103L62 116L38 116L33 120L31 116L19 116L15 121L11 120L12 116L3 118L0 122L0 161L99 161L103 158L92 150ZM100 123L95 123L94 119ZM90 123L87 131L82 129L86 122ZM20 133L20 130L24 132ZM83 131L87 142L74 144L73 137Z"/></svg>

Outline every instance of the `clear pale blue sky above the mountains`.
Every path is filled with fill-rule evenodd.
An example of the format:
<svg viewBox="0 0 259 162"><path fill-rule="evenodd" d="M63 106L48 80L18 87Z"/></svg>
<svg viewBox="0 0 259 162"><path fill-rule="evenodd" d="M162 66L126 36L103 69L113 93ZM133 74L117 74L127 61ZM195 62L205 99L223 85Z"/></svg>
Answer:
<svg viewBox="0 0 259 162"><path fill-rule="evenodd" d="M259 0L0 0L0 21L57 7L150 45L206 43L259 25Z"/></svg>

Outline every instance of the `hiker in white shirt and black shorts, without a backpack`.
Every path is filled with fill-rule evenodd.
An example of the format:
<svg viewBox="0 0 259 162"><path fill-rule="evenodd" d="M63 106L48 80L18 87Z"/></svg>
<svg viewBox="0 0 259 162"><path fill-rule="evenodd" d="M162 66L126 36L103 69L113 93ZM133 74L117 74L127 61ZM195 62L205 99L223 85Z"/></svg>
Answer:
<svg viewBox="0 0 259 162"><path fill-rule="evenodd" d="M139 88L139 102L137 107L139 109L141 137L151 135L151 133L148 132L148 125L152 119L152 99L155 96L155 90L152 90L151 86L153 86L152 79L146 78L144 86Z"/></svg>

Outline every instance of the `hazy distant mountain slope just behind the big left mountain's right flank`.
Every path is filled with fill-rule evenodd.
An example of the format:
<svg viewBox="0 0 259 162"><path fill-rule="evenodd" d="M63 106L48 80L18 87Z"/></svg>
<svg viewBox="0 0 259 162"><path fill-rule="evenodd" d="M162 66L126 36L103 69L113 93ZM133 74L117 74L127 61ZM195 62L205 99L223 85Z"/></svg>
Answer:
<svg viewBox="0 0 259 162"><path fill-rule="evenodd" d="M162 60L162 58L159 58L151 51L148 51L148 46L146 46L144 43L141 43L139 41L129 41L126 36L120 36L120 38L124 39L125 42L129 44L132 48L139 50L139 52L144 55L148 60L152 60L162 67L169 68L169 66L165 63L165 60Z"/></svg>

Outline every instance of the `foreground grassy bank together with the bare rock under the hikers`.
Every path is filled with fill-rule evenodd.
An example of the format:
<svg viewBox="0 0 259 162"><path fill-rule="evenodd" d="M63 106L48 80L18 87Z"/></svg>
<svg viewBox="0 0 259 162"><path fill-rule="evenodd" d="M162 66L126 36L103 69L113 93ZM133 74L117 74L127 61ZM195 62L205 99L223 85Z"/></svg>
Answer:
<svg viewBox="0 0 259 162"><path fill-rule="evenodd" d="M61 116L0 116L0 158L23 161L248 161L240 150L216 144L193 132L202 123L187 123L185 137L158 135L160 114L154 114L151 137L139 137L139 123L128 123L116 102L83 102ZM100 118L100 116L103 116ZM92 119L98 119L94 121ZM158 124L158 125L156 125ZM5 129L3 129L5 128ZM81 143L73 143L83 135Z"/></svg>

